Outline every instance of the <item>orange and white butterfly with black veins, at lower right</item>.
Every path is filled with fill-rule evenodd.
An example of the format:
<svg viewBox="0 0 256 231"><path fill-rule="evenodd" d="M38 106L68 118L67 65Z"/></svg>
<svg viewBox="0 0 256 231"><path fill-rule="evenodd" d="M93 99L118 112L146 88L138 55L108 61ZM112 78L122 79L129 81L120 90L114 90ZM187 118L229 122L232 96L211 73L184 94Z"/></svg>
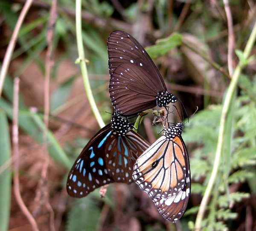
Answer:
<svg viewBox="0 0 256 231"><path fill-rule="evenodd" d="M183 123L167 127L134 164L133 179L148 193L160 214L180 219L190 195L189 156L181 137Z"/></svg>

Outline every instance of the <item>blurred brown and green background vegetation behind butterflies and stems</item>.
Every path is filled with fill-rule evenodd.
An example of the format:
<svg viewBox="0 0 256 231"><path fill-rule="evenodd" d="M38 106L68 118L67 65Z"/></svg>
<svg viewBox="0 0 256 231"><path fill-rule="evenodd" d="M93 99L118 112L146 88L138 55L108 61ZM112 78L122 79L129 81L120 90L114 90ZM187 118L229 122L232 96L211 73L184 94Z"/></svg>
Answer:
<svg viewBox="0 0 256 231"><path fill-rule="evenodd" d="M0 1L2 65L25 0ZM236 55L256 20L253 0L230 0ZM82 39L90 84L106 123L111 112L108 52L111 31L124 30L147 47L169 91L183 102L187 114L183 139L189 150L192 194L184 217L171 224L157 213L135 185L112 184L104 199L99 190L83 199L66 192L70 165L99 130L83 88L76 45L76 5L57 1L50 72L50 116L47 132L47 181L40 180L46 153L43 143L44 76L51 0L34 0L21 26L0 98L0 230L30 230L12 190L11 158L14 77L20 78L20 193L40 230L162 231L193 230L198 208L214 164L222 102L230 84L228 31L221 0L82 0ZM252 53L256 53L256 46ZM217 65L217 66L216 66ZM221 67L221 71L218 70ZM236 96L226 120L220 166L211 191L202 230L256 230L256 61L244 61ZM140 134L153 142L157 128L150 116ZM43 191L47 196L38 196ZM44 195L43 193L43 195ZM39 193L40 194L40 193ZM47 203L49 201L49 203ZM48 206L49 205L49 206ZM51 208L51 209L50 209ZM54 214L54 217L52 217ZM54 226L54 228L53 228Z"/></svg>

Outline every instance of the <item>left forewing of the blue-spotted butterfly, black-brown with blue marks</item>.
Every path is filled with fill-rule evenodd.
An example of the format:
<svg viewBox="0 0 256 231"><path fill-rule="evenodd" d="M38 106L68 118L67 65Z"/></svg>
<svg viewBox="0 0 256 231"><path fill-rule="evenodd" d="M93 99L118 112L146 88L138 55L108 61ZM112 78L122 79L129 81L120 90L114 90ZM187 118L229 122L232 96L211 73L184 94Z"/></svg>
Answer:
<svg viewBox="0 0 256 231"><path fill-rule="evenodd" d="M67 193L84 197L95 188L114 182L105 163L105 145L113 136L111 124L102 128L84 147L67 178Z"/></svg>

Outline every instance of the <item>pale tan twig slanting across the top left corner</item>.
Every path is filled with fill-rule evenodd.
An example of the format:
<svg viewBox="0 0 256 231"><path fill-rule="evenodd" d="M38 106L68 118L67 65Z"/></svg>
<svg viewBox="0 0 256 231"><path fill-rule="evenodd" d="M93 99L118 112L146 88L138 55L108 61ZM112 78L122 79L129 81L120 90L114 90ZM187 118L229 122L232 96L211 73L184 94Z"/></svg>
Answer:
<svg viewBox="0 0 256 231"><path fill-rule="evenodd" d="M29 8L30 8L32 2L33 2L33 0L26 0L26 3L23 6L23 8L20 12L20 16L19 16L19 18L17 20L17 23L15 25L15 29L12 33L12 38L9 42L8 47L7 47L6 54L3 58L3 65L2 65L1 72L0 72L0 97L1 97L1 94L2 94L4 79L6 77L6 73L8 71L9 65L10 65L10 61L11 61L11 58L12 58L12 53L13 53L13 50L15 48L15 44L16 44L16 40L17 40L19 31L20 31L20 27L23 23L23 20L26 16L27 12L29 11Z"/></svg>

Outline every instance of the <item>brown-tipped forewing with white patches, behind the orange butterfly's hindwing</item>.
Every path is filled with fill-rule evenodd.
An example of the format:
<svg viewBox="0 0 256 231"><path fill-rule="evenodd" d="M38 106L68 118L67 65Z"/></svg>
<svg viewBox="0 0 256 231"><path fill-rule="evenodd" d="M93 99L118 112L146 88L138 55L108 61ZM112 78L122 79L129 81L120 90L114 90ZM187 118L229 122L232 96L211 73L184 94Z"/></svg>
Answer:
<svg viewBox="0 0 256 231"><path fill-rule="evenodd" d="M176 195L169 196L167 198L154 198L153 202L157 207L159 213L163 216L163 218L176 222L180 219L188 205L189 196L190 196L190 170L189 170L189 156L186 150L186 146L180 138L180 141L183 145L183 149L185 150L186 155L186 182L183 189L181 189Z"/></svg>

